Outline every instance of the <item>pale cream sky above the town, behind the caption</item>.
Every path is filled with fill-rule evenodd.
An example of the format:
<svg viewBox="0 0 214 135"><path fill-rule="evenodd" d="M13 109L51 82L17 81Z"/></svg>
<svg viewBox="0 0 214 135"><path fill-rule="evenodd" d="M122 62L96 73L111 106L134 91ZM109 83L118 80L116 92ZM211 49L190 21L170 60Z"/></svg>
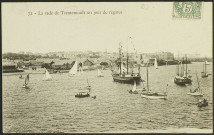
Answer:
<svg viewBox="0 0 214 135"><path fill-rule="evenodd" d="M85 14L38 15L49 11ZM201 12L201 19L173 18L173 2L2 3L2 52L117 52L122 43L143 53L212 57L212 3Z"/></svg>

